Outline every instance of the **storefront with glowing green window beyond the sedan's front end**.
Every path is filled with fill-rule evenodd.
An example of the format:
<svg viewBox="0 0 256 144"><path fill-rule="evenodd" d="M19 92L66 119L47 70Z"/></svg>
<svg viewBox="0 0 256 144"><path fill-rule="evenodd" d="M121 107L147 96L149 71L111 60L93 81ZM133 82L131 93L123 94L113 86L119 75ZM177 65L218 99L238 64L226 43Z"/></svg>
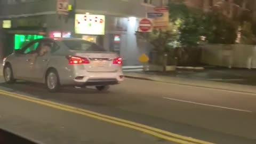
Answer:
<svg viewBox="0 0 256 144"><path fill-rule="evenodd" d="M4 41L3 56L21 49L34 39L46 37L46 17L20 17L2 21Z"/></svg>

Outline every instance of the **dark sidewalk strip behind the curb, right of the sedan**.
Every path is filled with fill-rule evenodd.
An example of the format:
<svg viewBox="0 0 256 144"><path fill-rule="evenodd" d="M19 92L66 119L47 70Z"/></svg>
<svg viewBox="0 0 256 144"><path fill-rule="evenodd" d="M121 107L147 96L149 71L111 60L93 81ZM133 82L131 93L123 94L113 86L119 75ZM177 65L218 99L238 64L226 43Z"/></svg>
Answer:
<svg viewBox="0 0 256 144"><path fill-rule="evenodd" d="M239 68L205 68L202 70L183 70L177 69L176 71L169 71L167 73L161 73L157 71L147 71L143 73L142 70L126 70L124 69L127 75L132 75L132 72L135 72L135 75L145 75L142 77L174 77L174 78L183 78L183 79L194 79L194 80L203 80L203 81L212 81L212 82L222 82L222 83L231 83L231 84L241 84L241 85L252 85L256 86L256 70L255 69L239 69Z"/></svg>

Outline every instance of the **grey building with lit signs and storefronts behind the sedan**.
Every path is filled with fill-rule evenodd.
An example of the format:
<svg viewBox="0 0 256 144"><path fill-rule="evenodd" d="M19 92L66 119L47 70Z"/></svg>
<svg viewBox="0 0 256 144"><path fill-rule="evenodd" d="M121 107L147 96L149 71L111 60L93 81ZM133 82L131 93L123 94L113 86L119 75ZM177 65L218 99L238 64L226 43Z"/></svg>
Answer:
<svg viewBox="0 0 256 144"><path fill-rule="evenodd" d="M145 47L137 44L135 35L139 19L161 4L161 0L69 0L69 15L63 16L57 14L57 0L3 0L0 3L2 57L31 39L77 37L119 53L124 65L140 65L138 57ZM104 18L104 25L91 22L91 30L81 30L76 27L79 14L89 15L90 19Z"/></svg>

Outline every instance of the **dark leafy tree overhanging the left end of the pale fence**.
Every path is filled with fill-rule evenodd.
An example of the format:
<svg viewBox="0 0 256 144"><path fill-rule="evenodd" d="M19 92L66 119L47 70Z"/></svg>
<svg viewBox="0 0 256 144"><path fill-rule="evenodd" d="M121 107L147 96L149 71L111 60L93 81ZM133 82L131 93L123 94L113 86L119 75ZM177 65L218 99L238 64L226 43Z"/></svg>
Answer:
<svg viewBox="0 0 256 144"><path fill-rule="evenodd" d="M201 51L198 44L202 40L207 43L235 44L237 26L222 13L204 13L184 3L171 3L169 7L171 22L181 21L178 41L182 47L177 52L180 65L196 65L199 62Z"/></svg>

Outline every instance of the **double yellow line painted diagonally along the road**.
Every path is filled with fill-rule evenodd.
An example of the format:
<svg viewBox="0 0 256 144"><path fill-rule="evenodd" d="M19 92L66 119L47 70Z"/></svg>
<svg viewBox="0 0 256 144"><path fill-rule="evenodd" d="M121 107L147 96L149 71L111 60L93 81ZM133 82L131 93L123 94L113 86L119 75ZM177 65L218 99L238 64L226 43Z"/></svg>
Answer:
<svg viewBox="0 0 256 144"><path fill-rule="evenodd" d="M76 107L71 107L71 106L63 105L63 104L56 103L56 102L51 102L51 101L47 101L47 100L32 98L32 97L28 97L28 96L22 95L22 94L7 92L7 91L3 91L3 90L0 90L0 94L4 94L4 95L10 96L10 97L14 97L14 98L18 98L18 99L22 99L22 100L26 100L26 101L30 101L30 102L35 102L35 103L38 103L38 104L41 104L41 105L44 105L44 106L49 106L49 107L52 107L52 108L57 108L57 109L65 110L65 111L70 111L72 113L81 114L81 115L92 117L92 118L95 118L95 119L100 119L100 120L105 121L105 122L109 122L109 123L129 127L131 129L134 129L134 130L138 130L138 131L141 131L141 132L145 132L145 133L154 135L155 137L158 137L158 138L162 138L162 139L165 139L165 140L169 140L169 141L173 141L173 142L177 142L177 143L181 143L181 144L187 144L187 143L191 143L191 144L196 144L196 143L199 143L199 144L213 144L211 142L206 142L206 141L197 140L197 139L194 139L194 138L184 137L184 136L179 135L179 134L174 134L174 133L171 133L171 132L168 132L168 131L164 131L164 130L156 129L154 127L150 127L150 126L147 126L147 125L127 121L127 120L124 120L124 119L121 119L121 118L111 117L111 116L108 116L108 115L103 115L103 114L95 113L93 111L89 111L89 110L85 110L85 109L81 109L81 108L76 108Z"/></svg>

